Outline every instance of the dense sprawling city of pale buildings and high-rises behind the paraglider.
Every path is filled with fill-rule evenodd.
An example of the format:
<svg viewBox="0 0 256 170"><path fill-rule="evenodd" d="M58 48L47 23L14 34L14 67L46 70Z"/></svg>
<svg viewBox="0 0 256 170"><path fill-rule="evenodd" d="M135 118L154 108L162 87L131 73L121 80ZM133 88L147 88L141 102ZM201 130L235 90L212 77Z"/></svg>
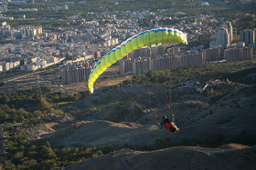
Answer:
<svg viewBox="0 0 256 170"><path fill-rule="evenodd" d="M120 75L137 75L155 70L207 65L212 61L232 62L251 59L255 49L255 29L240 30L240 35L237 35L237 29L232 27L237 20L226 21L224 18L217 20L211 15L170 17L161 15L161 10L157 12L107 11L101 14L101 20L88 21L80 15L73 15L68 17L69 27L44 30L43 25L12 27L8 22L14 18L5 16L8 5L0 5L0 9L2 20L0 22L0 73L12 69L36 71L49 65L61 64L59 75L62 83L88 80L91 69L103 55L128 37L146 29L176 28L187 34L188 44L194 42L200 35L209 35L209 47L198 45L190 46L188 49L184 45L158 44L137 49L119 61ZM69 5L56 6L52 10L69 10ZM16 13L24 11L37 13L37 9L34 8L20 8ZM127 18L127 15L130 17ZM141 21L149 15L152 19L147 21L146 25L141 25ZM26 20L26 16L23 15L19 19ZM180 22L174 25L163 25L160 22L172 19ZM185 22L188 19L192 22ZM108 22L104 22L105 20ZM73 26L72 23L76 25ZM219 24L219 26L209 24Z"/></svg>

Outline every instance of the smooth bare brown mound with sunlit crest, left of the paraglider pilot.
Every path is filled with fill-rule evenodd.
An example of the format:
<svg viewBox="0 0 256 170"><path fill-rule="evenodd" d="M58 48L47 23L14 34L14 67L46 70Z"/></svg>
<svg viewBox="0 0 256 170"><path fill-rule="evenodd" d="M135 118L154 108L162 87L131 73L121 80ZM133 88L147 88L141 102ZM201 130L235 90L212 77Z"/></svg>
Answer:
<svg viewBox="0 0 256 170"><path fill-rule="evenodd" d="M158 133L168 135L168 132L159 130L157 125L95 120L64 135L58 145L154 145ZM54 142L55 140L52 141L53 145Z"/></svg>

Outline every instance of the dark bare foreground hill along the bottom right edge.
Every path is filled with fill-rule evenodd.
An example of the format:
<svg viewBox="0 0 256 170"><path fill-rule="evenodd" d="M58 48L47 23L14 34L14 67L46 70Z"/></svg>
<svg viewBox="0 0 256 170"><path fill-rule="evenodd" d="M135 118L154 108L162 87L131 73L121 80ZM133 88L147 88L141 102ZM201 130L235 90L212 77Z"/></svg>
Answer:
<svg viewBox="0 0 256 170"><path fill-rule="evenodd" d="M231 147L229 147L231 146ZM178 146L153 152L123 149L66 169L255 169L256 146Z"/></svg>

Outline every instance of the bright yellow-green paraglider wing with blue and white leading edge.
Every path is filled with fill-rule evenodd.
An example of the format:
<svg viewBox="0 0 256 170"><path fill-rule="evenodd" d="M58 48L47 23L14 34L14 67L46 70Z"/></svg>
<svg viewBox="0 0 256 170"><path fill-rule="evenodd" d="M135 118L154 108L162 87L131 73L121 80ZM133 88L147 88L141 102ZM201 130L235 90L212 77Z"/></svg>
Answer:
<svg viewBox="0 0 256 170"><path fill-rule="evenodd" d="M121 45L112 49L107 55L94 65L91 75L88 79L88 87L93 94L93 84L97 78L111 65L121 60L123 56L128 55L133 50L142 48L147 45L155 45L158 43L176 42L187 45L187 35L173 28L159 28L144 31L138 35L128 38Z"/></svg>

